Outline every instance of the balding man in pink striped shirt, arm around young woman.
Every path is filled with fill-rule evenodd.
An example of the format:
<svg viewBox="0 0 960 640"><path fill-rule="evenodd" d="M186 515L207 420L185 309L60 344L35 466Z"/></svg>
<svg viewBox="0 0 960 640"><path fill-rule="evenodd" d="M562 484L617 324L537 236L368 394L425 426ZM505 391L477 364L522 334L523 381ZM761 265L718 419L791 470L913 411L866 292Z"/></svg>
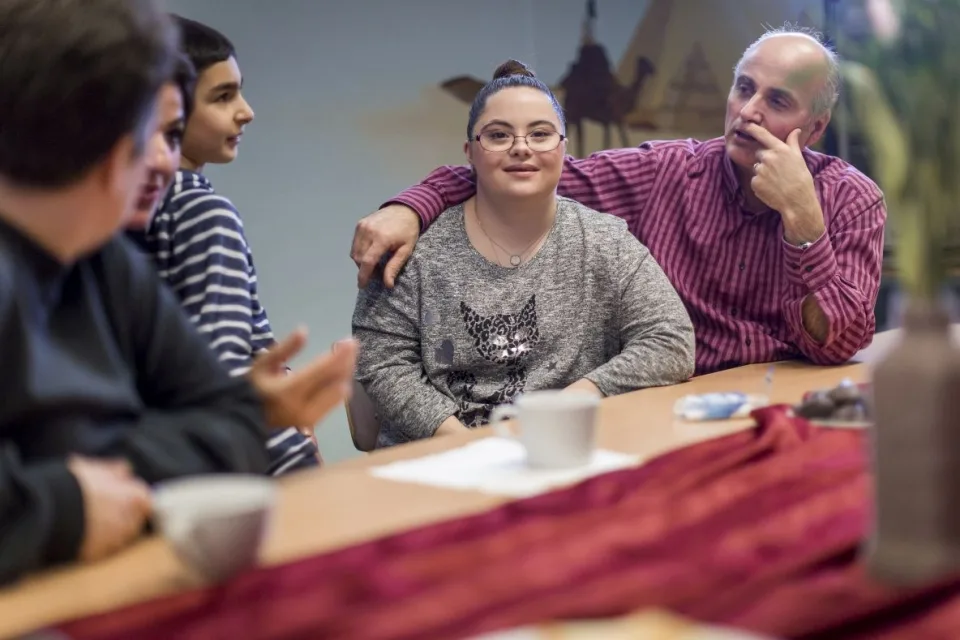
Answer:
<svg viewBox="0 0 960 640"><path fill-rule="evenodd" d="M676 287L698 374L797 357L839 364L873 338L883 194L807 149L838 85L836 57L815 35L771 31L737 64L722 138L566 159L560 194L626 220ZM392 286L420 229L475 189L470 167L441 167L361 220L360 286L389 253Z"/></svg>

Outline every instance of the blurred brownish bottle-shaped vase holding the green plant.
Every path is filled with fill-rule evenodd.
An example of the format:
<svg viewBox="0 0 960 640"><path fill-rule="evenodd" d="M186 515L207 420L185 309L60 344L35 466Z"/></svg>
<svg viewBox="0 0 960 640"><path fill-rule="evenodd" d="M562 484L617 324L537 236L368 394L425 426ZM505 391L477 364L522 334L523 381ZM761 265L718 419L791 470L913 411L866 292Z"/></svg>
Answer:
<svg viewBox="0 0 960 640"><path fill-rule="evenodd" d="M912 301L873 374L869 567L893 584L960 571L960 351L948 323L936 303Z"/></svg>

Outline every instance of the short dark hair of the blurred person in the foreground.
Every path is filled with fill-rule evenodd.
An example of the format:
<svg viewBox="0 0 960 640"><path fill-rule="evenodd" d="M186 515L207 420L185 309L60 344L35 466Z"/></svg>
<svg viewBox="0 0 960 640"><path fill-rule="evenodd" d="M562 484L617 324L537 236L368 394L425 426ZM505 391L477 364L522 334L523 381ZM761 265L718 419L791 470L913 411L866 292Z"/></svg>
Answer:
<svg viewBox="0 0 960 640"><path fill-rule="evenodd" d="M0 174L58 188L126 135L142 153L176 45L154 0L0 2Z"/></svg>

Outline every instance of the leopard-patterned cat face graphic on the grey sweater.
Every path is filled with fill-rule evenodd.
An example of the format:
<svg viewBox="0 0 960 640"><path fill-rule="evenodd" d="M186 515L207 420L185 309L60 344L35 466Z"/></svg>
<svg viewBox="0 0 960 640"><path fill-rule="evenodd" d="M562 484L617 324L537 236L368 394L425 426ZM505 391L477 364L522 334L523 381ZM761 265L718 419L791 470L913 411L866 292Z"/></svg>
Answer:
<svg viewBox="0 0 960 640"><path fill-rule="evenodd" d="M490 362L518 364L540 342L536 295L530 296L519 313L482 316L465 302L460 303L460 313L477 353Z"/></svg>

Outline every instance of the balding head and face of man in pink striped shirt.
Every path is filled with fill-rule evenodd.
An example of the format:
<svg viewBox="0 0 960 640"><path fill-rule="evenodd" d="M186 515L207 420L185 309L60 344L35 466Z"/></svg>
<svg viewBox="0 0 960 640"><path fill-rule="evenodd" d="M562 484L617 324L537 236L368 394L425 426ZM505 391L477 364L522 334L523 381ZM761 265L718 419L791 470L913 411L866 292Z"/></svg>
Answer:
<svg viewBox="0 0 960 640"><path fill-rule="evenodd" d="M800 129L800 145L820 139L830 113L815 114L813 103L823 90L827 64L813 39L797 34L768 38L749 51L737 68L724 125L727 154L733 163L751 169L760 144L742 131L760 125L780 140Z"/></svg>

